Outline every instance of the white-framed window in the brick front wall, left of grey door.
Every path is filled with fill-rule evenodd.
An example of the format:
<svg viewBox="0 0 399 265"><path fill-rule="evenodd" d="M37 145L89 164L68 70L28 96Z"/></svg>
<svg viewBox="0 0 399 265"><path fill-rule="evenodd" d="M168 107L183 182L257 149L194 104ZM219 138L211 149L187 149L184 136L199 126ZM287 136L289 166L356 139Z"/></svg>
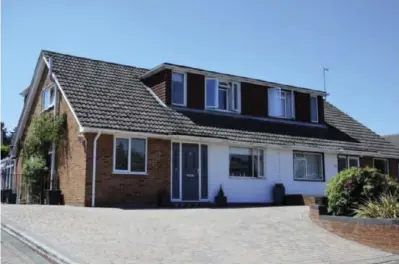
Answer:
<svg viewBox="0 0 399 265"><path fill-rule="evenodd" d="M114 174L147 174L147 139L114 137Z"/></svg>

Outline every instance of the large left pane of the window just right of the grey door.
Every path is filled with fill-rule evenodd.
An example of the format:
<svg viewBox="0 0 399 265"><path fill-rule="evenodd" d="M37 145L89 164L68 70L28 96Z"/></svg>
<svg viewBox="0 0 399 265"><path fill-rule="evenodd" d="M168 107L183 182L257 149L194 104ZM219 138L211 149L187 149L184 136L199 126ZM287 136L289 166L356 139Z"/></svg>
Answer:
<svg viewBox="0 0 399 265"><path fill-rule="evenodd" d="M249 148L230 148L230 176L252 177L252 151Z"/></svg>

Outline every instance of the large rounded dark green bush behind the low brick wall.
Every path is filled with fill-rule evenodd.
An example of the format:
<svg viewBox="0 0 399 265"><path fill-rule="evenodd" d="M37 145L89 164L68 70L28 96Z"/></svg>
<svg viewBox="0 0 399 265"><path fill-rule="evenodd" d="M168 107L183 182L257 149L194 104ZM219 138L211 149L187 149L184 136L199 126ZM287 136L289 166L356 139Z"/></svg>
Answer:
<svg viewBox="0 0 399 265"><path fill-rule="evenodd" d="M374 168L346 169L327 184L328 210L334 215L354 215L354 209L365 201L397 191L398 182Z"/></svg>

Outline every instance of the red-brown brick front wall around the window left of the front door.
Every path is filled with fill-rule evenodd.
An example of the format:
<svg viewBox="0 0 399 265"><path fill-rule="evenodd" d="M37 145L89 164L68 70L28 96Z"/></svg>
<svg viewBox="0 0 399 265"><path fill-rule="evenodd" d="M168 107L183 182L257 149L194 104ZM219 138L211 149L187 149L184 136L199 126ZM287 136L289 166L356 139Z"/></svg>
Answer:
<svg viewBox="0 0 399 265"><path fill-rule="evenodd" d="M86 134L86 205L91 205L93 140ZM113 174L113 135L101 135L97 143L96 206L155 204L157 192L170 191L170 141L148 138L147 175Z"/></svg>

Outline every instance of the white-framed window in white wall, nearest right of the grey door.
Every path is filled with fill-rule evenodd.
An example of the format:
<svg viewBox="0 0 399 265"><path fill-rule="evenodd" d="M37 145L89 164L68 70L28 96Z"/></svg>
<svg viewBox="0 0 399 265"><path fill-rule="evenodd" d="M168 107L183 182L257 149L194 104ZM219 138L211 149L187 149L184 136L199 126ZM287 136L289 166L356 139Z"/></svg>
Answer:
<svg viewBox="0 0 399 265"><path fill-rule="evenodd" d="M230 147L231 177L261 178L264 172L264 150L260 148Z"/></svg>

